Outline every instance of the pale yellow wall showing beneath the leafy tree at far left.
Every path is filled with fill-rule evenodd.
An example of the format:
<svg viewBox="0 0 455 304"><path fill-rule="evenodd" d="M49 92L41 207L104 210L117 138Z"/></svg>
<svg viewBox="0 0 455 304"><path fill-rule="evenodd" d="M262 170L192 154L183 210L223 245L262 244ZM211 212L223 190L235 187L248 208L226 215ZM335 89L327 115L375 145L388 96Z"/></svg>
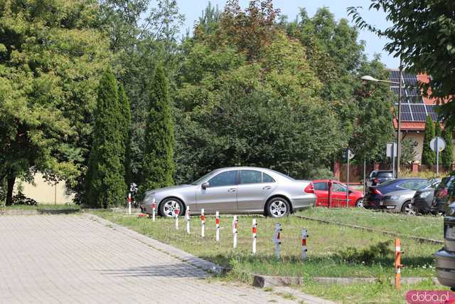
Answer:
<svg viewBox="0 0 455 304"><path fill-rule="evenodd" d="M39 204L67 204L74 198L74 194L65 194L65 182L59 182L56 185L48 184L43 179L43 174L36 173L34 183L35 185L17 181L14 192L17 193L18 187L22 187L23 194L38 201Z"/></svg>

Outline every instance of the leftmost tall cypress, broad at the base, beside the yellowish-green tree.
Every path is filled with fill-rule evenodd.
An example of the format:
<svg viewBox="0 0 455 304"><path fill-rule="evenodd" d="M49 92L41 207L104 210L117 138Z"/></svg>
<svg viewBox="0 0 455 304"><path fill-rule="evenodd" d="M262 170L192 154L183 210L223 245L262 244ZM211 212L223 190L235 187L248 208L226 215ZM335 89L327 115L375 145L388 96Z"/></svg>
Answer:
<svg viewBox="0 0 455 304"><path fill-rule="evenodd" d="M117 83L108 69L100 80L95 129L87 169L86 204L107 208L124 201L124 166L119 156L122 132L119 124Z"/></svg>

